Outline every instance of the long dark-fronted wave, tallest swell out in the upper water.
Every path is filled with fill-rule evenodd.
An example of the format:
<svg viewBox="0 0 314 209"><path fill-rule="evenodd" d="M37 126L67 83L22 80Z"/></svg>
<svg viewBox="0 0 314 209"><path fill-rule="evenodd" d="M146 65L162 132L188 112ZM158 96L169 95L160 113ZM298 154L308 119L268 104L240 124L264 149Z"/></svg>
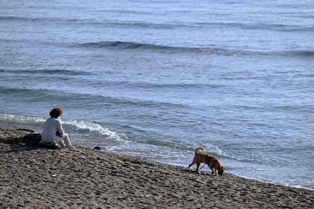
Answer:
<svg viewBox="0 0 314 209"><path fill-rule="evenodd" d="M114 49L151 49L159 50L162 52L175 53L175 52L191 52L201 54L217 54L217 55L281 55L281 56L314 56L314 50L288 50L288 51L250 51L250 50L236 50L228 48L218 47L180 47L180 46L163 46L147 43L136 43L136 42L122 42L122 41L101 41L101 42L90 42L75 45L78 47L89 47L89 48L114 48Z"/></svg>

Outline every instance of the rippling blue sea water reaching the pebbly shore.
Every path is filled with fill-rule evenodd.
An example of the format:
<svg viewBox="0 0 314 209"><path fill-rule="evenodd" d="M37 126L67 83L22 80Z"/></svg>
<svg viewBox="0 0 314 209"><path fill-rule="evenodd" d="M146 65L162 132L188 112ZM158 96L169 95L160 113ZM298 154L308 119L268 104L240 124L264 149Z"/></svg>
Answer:
<svg viewBox="0 0 314 209"><path fill-rule="evenodd" d="M77 145L314 189L313 70L312 0L0 1L0 126Z"/></svg>

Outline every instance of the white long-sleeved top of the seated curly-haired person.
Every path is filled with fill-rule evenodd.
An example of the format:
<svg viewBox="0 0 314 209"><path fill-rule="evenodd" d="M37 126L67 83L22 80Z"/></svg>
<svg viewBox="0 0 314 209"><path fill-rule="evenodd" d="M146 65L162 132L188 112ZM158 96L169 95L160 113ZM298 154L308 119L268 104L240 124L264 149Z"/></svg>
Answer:
<svg viewBox="0 0 314 209"><path fill-rule="evenodd" d="M43 133L41 135L42 141L52 141L56 138L55 133L59 132L60 134L64 134L62 129L61 120L55 117L51 117L44 123Z"/></svg>

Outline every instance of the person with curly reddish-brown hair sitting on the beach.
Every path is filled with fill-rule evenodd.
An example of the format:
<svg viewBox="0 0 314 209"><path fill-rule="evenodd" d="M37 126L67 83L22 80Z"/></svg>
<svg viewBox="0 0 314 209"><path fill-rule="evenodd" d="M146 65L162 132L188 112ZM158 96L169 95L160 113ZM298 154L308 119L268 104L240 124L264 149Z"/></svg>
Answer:
<svg viewBox="0 0 314 209"><path fill-rule="evenodd" d="M71 141L69 139L68 134L64 133L61 125L62 116L61 108L53 108L49 115L51 118L47 119L44 123L43 133L41 135L41 139L44 142L58 142L62 147L68 147L72 149ZM64 144L65 142L65 144Z"/></svg>

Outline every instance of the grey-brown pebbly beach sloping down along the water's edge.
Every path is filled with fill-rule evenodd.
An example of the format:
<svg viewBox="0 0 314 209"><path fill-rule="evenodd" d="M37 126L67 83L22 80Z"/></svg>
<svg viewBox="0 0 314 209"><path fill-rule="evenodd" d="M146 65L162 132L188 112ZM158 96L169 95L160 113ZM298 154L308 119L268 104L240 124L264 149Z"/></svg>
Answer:
<svg viewBox="0 0 314 209"><path fill-rule="evenodd" d="M0 208L314 208L314 191L107 151L29 147L0 129ZM192 159L193 156L191 156ZM271 172L271 171L269 171Z"/></svg>

